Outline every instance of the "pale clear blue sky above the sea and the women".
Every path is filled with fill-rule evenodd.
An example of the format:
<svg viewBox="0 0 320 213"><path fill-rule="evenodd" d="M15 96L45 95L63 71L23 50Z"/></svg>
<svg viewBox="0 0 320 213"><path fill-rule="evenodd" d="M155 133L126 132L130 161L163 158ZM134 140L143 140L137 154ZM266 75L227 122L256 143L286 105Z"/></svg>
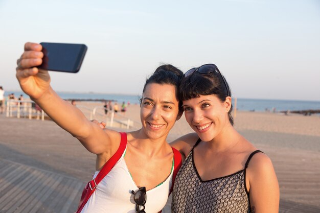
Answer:
<svg viewBox="0 0 320 213"><path fill-rule="evenodd" d="M319 0L0 0L0 85L18 90L26 41L85 43L58 91L140 94L162 63L215 63L238 98L320 101Z"/></svg>

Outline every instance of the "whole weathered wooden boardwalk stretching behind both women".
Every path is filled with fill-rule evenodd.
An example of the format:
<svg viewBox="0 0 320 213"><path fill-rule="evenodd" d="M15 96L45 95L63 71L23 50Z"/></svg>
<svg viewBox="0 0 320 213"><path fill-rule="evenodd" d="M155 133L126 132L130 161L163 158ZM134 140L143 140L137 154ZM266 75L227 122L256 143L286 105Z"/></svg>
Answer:
<svg viewBox="0 0 320 213"><path fill-rule="evenodd" d="M0 115L0 213L75 212L95 155L50 121ZM280 213L320 212L320 137L242 131L273 161ZM283 141L291 141L282 146ZM312 145L312 146L311 146ZM316 146L313 146L316 145ZM163 213L170 213L170 200Z"/></svg>

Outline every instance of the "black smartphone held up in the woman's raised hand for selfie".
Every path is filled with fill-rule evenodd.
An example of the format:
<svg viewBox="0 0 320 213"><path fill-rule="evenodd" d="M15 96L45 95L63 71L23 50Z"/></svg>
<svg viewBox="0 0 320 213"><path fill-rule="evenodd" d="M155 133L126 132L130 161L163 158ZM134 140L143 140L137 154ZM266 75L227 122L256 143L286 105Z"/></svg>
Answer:
<svg viewBox="0 0 320 213"><path fill-rule="evenodd" d="M42 42L43 59L38 66L52 71L77 73L87 51L85 44Z"/></svg>

